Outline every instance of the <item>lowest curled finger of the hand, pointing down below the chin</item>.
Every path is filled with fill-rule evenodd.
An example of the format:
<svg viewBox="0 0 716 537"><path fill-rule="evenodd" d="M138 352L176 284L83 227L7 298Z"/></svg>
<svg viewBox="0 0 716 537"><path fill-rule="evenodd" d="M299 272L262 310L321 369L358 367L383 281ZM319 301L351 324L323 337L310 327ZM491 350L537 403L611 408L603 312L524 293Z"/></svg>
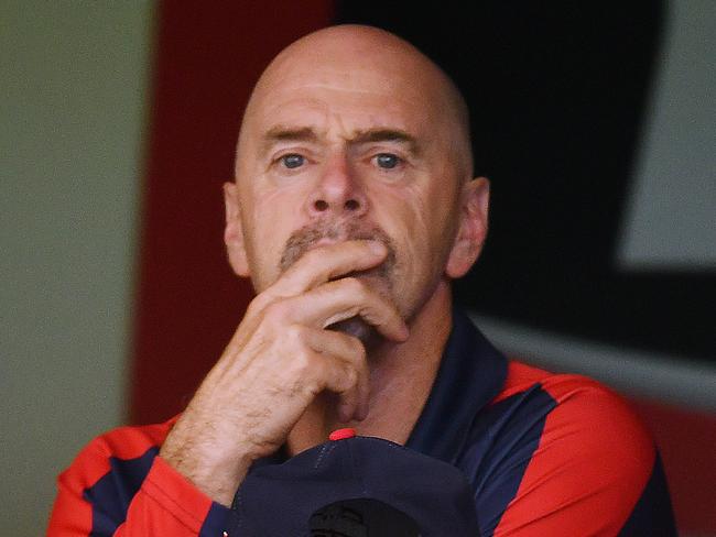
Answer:
<svg viewBox="0 0 716 537"><path fill-rule="evenodd" d="M340 360L343 371L334 372L336 375L345 375L346 371L352 370L357 374L355 387L340 392L336 390L336 379L330 379L332 391L339 394L338 406L339 417L343 421L351 419L362 420L368 416L370 398L370 372L366 361L366 349L362 343L351 336L341 332L304 328L308 346L316 352L322 353L326 359ZM348 365L348 369L346 368ZM349 380L349 379L348 379Z"/></svg>

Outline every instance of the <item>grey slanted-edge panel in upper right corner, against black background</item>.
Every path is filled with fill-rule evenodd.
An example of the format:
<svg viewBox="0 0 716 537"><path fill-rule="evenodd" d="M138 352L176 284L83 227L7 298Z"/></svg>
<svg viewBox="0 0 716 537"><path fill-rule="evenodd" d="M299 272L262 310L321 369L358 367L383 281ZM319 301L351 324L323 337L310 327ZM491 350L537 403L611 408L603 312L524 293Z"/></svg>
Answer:
<svg viewBox="0 0 716 537"><path fill-rule="evenodd" d="M618 264L716 270L716 2L666 2Z"/></svg>

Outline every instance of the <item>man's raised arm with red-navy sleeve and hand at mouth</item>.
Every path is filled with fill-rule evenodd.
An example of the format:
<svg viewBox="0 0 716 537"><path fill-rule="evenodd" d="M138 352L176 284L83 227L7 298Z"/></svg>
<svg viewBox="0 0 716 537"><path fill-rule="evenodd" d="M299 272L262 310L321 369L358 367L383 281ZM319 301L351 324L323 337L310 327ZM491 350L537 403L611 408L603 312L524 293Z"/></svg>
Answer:
<svg viewBox="0 0 716 537"><path fill-rule="evenodd" d="M360 316L388 339L408 337L394 305L340 277L386 254L382 245L347 241L302 256L254 298L171 430L137 439L135 429L118 429L61 475L51 535L199 535L207 524L220 526L251 463L285 442L319 393L338 395L345 420L362 419L365 348L326 327Z"/></svg>

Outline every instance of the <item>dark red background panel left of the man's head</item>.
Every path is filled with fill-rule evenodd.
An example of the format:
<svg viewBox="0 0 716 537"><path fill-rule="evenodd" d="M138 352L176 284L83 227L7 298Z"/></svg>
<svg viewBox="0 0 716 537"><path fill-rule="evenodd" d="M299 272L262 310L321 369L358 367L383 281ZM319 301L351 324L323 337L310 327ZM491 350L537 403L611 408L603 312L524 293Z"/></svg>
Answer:
<svg viewBox="0 0 716 537"><path fill-rule="evenodd" d="M130 419L167 419L228 342L252 291L228 267L221 184L258 76L326 25L325 0L162 2L135 298Z"/></svg>

